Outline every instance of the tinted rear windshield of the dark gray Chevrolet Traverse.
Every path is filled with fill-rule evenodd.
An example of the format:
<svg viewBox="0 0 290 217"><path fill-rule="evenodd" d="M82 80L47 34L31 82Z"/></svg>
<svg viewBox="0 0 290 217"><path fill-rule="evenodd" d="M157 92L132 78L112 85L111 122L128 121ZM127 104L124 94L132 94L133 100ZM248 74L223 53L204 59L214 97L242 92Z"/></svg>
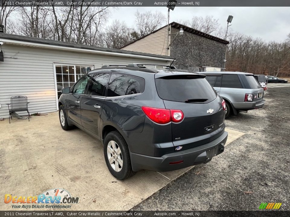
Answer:
<svg viewBox="0 0 290 217"><path fill-rule="evenodd" d="M205 99L201 103L208 103L218 96L203 77L166 76L155 79L155 83L159 97L165 100L185 102Z"/></svg>

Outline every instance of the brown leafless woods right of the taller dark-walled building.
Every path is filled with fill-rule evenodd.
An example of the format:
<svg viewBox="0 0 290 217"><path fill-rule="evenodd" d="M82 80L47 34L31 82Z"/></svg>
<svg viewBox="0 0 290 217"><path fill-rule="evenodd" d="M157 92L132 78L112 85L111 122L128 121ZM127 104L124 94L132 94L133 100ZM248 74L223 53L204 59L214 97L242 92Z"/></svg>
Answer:
<svg viewBox="0 0 290 217"><path fill-rule="evenodd" d="M227 70L290 76L290 36L284 42L266 43L240 33L230 33Z"/></svg>

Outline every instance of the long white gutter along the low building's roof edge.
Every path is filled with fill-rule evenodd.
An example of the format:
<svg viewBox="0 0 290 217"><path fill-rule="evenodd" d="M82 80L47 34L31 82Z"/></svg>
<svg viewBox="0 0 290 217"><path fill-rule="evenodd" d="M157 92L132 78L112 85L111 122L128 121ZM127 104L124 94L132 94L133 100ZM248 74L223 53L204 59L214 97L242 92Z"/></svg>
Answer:
<svg viewBox="0 0 290 217"><path fill-rule="evenodd" d="M0 38L1 39L1 38ZM47 45L41 43L34 43L34 42L24 42L18 40L11 40L11 39L1 39L2 42L6 42L7 44L19 44L19 45L33 45L43 48L53 48L59 50L72 50L72 51L79 51L85 53L97 53L103 55L111 55L111 56L124 56L124 57L135 57L135 58L146 58L146 59L154 59L154 60L163 60L163 61L172 61L173 58L160 58L160 57L152 57L152 56L143 56L137 54L124 54L124 53L116 53L116 52L106 52L106 51L97 51L97 50L90 50L90 49L80 49L80 48L71 48L71 47L64 47L64 46L57 46L57 45Z"/></svg>

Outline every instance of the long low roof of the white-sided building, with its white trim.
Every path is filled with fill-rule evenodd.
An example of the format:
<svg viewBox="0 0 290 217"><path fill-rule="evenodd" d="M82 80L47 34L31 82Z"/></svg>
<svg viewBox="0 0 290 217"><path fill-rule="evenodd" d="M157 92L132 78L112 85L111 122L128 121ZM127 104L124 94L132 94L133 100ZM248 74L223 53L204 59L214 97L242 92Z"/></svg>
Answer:
<svg viewBox="0 0 290 217"><path fill-rule="evenodd" d="M3 40L5 39L5 40ZM96 47L96 46L89 46L89 45L82 45L82 44L74 44L69 42L62 42L62 41L55 41L50 39L42 39L42 38L34 38L34 37L28 37L28 36L20 36L20 35L14 35L14 34L6 34L6 33L0 33L0 40L12 43L13 41L18 42L28 42L33 44L40 44L40 45L46 45L50 47L64 47L69 49L76 49L76 50L84 50L84 51L96 51L96 52L102 52L107 54L115 54L115 55L135 55L140 57L148 57L148 58L158 58L158 59L164 59L164 60L173 60L173 58L169 56L163 56L163 55L155 55L155 54L148 54L148 53L141 53L141 52L135 52L135 51L126 51L126 50L120 50L120 49L111 49L111 48L102 48L102 47Z"/></svg>

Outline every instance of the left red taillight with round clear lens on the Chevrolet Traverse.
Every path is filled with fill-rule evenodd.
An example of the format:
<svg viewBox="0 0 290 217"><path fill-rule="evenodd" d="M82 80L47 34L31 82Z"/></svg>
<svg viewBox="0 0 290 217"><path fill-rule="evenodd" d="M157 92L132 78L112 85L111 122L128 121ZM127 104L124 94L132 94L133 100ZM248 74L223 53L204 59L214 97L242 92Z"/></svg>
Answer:
<svg viewBox="0 0 290 217"><path fill-rule="evenodd" d="M184 115L181 110L172 110L165 108L141 107L145 115L157 124L167 124L170 121L178 123L182 121Z"/></svg>

